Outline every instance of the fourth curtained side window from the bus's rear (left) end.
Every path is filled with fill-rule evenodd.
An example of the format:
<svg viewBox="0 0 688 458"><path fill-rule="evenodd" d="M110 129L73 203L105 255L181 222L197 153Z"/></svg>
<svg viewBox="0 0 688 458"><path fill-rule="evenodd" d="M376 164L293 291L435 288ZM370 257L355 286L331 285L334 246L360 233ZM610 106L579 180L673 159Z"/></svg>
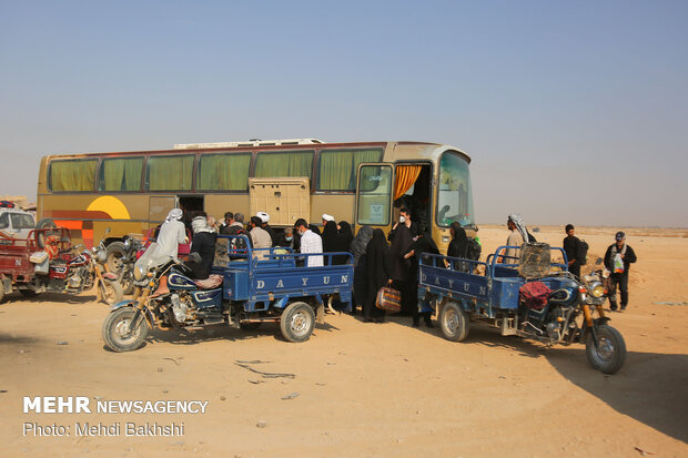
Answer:
<svg viewBox="0 0 688 458"><path fill-rule="evenodd" d="M196 189L202 191L245 191L249 189L251 153L203 154L199 163Z"/></svg>

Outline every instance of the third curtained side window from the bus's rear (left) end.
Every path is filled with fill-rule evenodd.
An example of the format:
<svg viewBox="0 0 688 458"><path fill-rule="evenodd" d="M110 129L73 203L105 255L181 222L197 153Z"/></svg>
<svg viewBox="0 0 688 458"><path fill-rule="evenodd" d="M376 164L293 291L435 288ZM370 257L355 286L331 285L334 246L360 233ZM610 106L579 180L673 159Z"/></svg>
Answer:
<svg viewBox="0 0 688 458"><path fill-rule="evenodd" d="M149 156L145 171L148 191L191 190L194 156Z"/></svg>

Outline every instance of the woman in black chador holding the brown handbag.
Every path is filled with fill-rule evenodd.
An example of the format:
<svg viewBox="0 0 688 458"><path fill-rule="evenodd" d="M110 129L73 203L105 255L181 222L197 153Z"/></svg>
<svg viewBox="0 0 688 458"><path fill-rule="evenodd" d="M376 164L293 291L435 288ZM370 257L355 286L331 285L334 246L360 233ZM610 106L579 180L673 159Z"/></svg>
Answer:
<svg viewBox="0 0 688 458"><path fill-rule="evenodd" d="M377 291L389 282L389 246L381 228L373 231L373 238L365 251L365 272L368 294L363 304L363 318L365 322L383 323L385 311L375 307L375 298Z"/></svg>

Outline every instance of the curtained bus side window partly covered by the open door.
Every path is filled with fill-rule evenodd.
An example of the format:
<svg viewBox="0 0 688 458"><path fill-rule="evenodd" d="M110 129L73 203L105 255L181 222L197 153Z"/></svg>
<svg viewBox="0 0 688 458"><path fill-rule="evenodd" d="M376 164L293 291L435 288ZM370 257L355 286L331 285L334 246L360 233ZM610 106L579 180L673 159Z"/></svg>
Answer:
<svg viewBox="0 0 688 458"><path fill-rule="evenodd" d="M378 162L382 150L321 151L318 159L318 191L355 191L356 171L362 162Z"/></svg>

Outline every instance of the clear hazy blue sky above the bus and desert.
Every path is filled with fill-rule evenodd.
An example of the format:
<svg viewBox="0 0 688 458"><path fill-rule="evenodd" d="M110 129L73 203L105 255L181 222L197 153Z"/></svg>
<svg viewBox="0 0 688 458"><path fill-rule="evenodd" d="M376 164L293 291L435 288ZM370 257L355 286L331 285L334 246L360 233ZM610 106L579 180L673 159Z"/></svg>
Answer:
<svg viewBox="0 0 688 458"><path fill-rule="evenodd" d="M0 0L0 195L40 157L414 140L478 224L688 227L687 1Z"/></svg>

